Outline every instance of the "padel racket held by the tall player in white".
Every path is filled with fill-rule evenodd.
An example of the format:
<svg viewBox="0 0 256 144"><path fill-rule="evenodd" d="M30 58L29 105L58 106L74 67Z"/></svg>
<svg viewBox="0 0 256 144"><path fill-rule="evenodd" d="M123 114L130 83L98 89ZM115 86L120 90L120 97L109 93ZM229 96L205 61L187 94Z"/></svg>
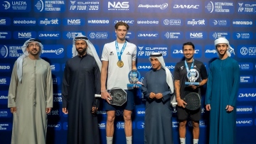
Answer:
<svg viewBox="0 0 256 144"><path fill-rule="evenodd" d="M122 106L127 101L127 92L124 89L114 87L109 91L112 99L110 100L110 104L115 106ZM100 94L95 94L95 97L101 97Z"/></svg>

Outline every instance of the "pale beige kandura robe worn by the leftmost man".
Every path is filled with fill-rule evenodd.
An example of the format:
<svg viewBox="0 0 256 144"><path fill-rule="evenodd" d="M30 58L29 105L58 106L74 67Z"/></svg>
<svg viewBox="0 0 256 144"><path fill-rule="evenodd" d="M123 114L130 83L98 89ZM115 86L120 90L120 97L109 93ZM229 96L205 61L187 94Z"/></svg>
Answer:
<svg viewBox="0 0 256 144"><path fill-rule="evenodd" d="M21 82L17 77L17 62L11 74L8 107L16 107L11 144L46 143L46 108L53 107L53 81L50 65L45 60L23 59Z"/></svg>

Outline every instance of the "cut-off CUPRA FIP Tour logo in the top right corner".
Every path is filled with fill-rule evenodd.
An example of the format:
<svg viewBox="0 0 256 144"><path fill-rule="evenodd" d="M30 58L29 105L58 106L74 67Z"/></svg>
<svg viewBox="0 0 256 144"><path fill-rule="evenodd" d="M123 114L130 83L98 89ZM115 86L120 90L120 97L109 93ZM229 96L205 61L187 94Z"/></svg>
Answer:
<svg viewBox="0 0 256 144"><path fill-rule="evenodd" d="M238 3L239 7L238 7L238 13L245 13L245 14L249 14L249 13L256 13L255 10L255 6L256 3L255 2L243 2L243 3Z"/></svg>

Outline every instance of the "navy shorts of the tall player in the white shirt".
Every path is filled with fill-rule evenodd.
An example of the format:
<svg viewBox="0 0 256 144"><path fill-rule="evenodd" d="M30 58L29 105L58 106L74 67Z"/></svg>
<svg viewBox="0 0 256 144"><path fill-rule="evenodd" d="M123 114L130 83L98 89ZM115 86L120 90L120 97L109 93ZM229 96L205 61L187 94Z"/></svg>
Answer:
<svg viewBox="0 0 256 144"><path fill-rule="evenodd" d="M111 104L108 104L107 101L104 101L103 109L105 111L116 111L117 109L125 109L132 111L134 109L134 89L125 89L125 92L127 92L127 101L122 106L114 106Z"/></svg>

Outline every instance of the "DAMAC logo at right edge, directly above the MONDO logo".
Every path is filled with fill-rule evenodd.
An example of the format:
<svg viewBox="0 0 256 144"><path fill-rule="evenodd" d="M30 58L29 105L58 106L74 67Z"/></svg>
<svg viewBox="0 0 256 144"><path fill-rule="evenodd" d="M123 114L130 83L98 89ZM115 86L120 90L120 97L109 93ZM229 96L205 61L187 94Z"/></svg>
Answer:
<svg viewBox="0 0 256 144"><path fill-rule="evenodd" d="M256 89L252 89L252 88L239 89L238 101L256 101Z"/></svg>

